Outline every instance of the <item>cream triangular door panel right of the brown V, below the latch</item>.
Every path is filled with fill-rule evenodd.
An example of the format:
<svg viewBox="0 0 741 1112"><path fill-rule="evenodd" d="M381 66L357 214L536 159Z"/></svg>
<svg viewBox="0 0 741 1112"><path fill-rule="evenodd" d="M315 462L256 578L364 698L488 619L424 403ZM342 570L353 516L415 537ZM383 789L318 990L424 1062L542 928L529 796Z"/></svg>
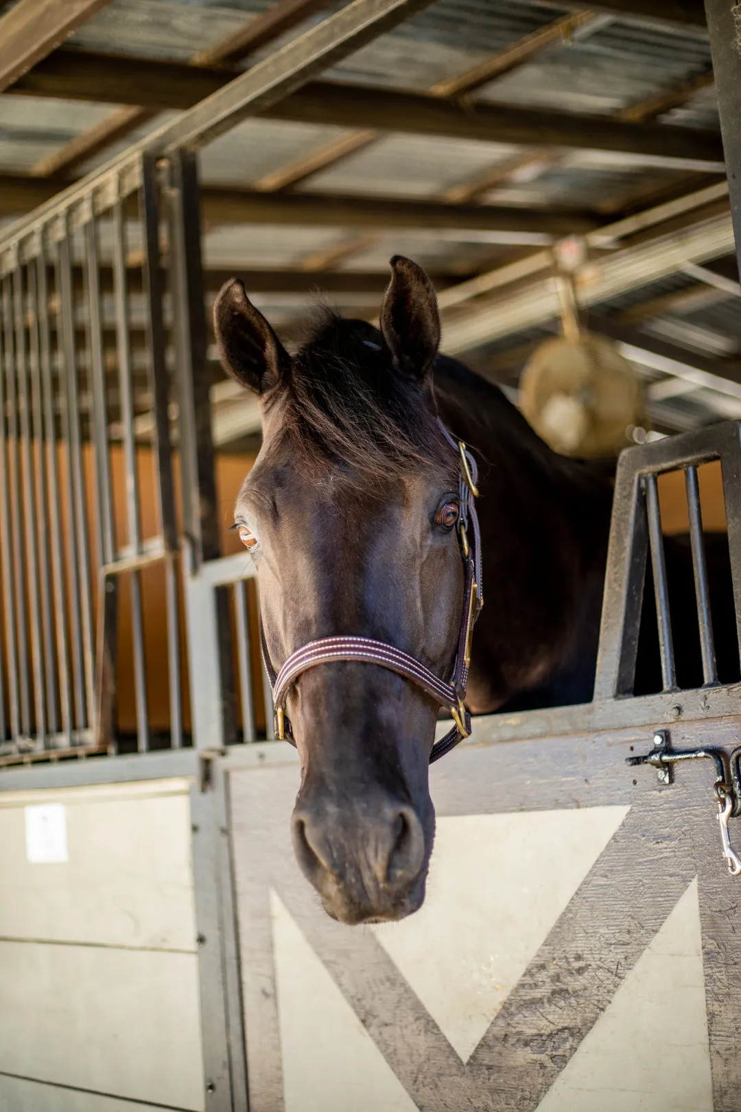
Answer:
<svg viewBox="0 0 741 1112"><path fill-rule="evenodd" d="M538 1112L713 1112L698 882Z"/></svg>

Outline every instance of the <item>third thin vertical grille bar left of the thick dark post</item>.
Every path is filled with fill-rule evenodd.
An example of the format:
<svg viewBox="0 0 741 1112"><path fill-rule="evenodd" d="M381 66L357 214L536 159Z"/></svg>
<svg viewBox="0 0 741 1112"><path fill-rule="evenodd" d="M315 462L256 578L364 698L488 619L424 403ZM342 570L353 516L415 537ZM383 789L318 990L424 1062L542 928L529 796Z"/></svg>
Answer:
<svg viewBox="0 0 741 1112"><path fill-rule="evenodd" d="M72 562L73 659L76 662L77 724L82 727L92 719L96 706L94 658L92 645L92 607L90 593L90 552L88 514L80 440L80 403L78 397L77 359L74 350L74 307L72 302L72 267L70 229L59 245L59 305L61 310L62 353L66 371L68 413L62 411L62 430L67 441L67 477L70 496L70 559ZM62 405L62 410L64 405ZM73 538L73 539L72 539ZM76 597L77 596L77 597ZM87 709L86 709L87 708Z"/></svg>

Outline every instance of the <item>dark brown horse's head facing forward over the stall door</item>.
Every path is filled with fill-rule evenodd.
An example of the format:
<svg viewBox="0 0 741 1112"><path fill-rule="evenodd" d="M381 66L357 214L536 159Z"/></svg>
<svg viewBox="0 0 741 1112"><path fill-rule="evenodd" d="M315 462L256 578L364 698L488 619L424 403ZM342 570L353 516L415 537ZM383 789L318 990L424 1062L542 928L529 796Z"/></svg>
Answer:
<svg viewBox="0 0 741 1112"><path fill-rule="evenodd" d="M234 523L276 672L328 637L393 646L441 679L457 659L460 460L434 408L437 300L413 262L391 268L379 329L327 314L293 355L240 281L214 307L223 365L260 399L262 447ZM424 898L440 702L359 659L322 659L287 689L301 761L296 855L343 923L402 919Z"/></svg>

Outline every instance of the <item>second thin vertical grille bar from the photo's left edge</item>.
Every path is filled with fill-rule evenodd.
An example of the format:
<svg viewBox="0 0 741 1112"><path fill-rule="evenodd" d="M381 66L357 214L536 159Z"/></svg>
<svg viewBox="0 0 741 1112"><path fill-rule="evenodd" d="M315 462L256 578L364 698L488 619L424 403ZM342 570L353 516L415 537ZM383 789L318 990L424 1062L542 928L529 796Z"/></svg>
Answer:
<svg viewBox="0 0 741 1112"><path fill-rule="evenodd" d="M20 418L20 443L22 456L23 524L17 528L26 530L26 558L28 560L28 603L31 626L31 667L33 674L34 729L46 744L47 713L44 696L43 653L41 644L41 598L39 593L39 515L33 488L33 458L31 450L31 403L29 394L29 366L26 345L26 306L23 304L23 271L13 271L13 308L16 314L16 361L18 370L18 410ZM32 327L32 326L31 326ZM43 542L42 542L43 543Z"/></svg>

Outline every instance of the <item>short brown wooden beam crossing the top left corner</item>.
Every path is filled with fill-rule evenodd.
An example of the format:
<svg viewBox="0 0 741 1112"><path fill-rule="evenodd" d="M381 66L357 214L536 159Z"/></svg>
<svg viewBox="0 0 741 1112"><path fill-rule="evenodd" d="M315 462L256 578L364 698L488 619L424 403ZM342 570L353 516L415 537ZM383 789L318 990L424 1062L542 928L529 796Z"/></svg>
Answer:
<svg viewBox="0 0 741 1112"><path fill-rule="evenodd" d="M111 0L19 0L0 18L0 92Z"/></svg>

